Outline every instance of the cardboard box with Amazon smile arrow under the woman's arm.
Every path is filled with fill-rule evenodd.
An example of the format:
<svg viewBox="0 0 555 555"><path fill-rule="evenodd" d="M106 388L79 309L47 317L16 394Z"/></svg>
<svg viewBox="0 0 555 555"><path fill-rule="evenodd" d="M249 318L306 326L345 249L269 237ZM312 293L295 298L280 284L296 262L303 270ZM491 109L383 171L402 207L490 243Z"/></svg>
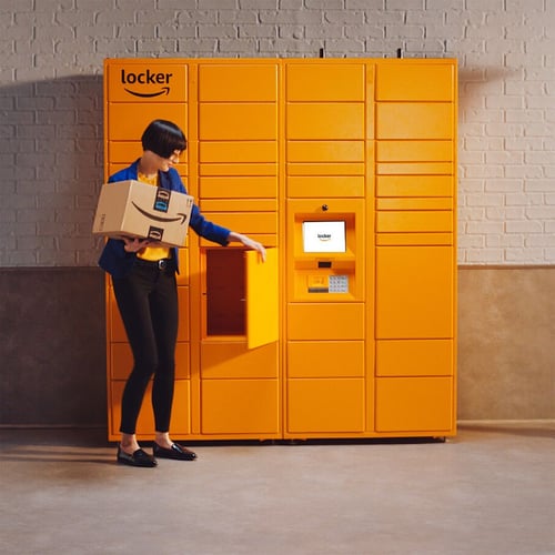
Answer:
<svg viewBox="0 0 555 555"><path fill-rule="evenodd" d="M183 246L193 198L139 181L105 183L100 191L92 233L110 238L148 238Z"/></svg>

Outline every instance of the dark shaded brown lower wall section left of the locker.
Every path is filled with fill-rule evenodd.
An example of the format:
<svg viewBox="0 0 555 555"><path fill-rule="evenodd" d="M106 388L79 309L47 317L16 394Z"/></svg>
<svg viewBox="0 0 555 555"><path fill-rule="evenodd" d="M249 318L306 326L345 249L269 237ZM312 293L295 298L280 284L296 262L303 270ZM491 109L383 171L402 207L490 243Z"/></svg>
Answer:
<svg viewBox="0 0 555 555"><path fill-rule="evenodd" d="M104 274L0 269L0 426L105 427Z"/></svg>

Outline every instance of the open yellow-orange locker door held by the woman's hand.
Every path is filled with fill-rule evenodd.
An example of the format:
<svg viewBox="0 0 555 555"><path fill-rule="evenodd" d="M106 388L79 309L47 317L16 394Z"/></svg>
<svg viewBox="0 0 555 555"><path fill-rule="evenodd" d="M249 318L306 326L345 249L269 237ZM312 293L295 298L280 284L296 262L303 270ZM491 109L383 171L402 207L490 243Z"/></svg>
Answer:
<svg viewBox="0 0 555 555"><path fill-rule="evenodd" d="M262 262L256 251L245 252L246 346L255 349L280 336L278 249L266 250Z"/></svg>

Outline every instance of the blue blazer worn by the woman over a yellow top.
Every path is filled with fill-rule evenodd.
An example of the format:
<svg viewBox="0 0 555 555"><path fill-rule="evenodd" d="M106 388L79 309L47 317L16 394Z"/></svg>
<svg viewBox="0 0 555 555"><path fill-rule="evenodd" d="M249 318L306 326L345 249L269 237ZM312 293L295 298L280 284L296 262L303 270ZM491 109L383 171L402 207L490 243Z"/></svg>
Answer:
<svg viewBox="0 0 555 555"><path fill-rule="evenodd" d="M139 160L133 162L129 168L124 168L119 172L114 173L108 180L109 183L114 183L117 181L127 181L130 179L138 179L138 167ZM169 189L170 191L178 191L180 193L185 193L186 190L181 181L181 178L176 170L170 168L168 172L159 172L159 183L162 189ZM189 219L189 225L193 231L209 241L221 244L225 246L229 243L230 230L216 225L215 223L209 222L199 210L196 204L193 204L193 210L191 212L191 218ZM99 265L112 275L112 278L124 278L125 274L133 268L137 254L134 252L127 252L124 249L123 241L119 239L109 239L99 259ZM172 248L173 258L178 263L178 249Z"/></svg>

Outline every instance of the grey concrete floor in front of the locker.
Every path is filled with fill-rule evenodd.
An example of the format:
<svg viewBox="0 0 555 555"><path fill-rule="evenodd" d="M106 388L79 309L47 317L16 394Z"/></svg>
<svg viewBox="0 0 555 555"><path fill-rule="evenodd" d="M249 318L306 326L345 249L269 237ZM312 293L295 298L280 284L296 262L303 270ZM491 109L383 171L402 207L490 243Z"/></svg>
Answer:
<svg viewBox="0 0 555 555"><path fill-rule="evenodd" d="M198 461L158 468L117 465L103 435L0 430L0 553L555 553L555 423L198 445Z"/></svg>

